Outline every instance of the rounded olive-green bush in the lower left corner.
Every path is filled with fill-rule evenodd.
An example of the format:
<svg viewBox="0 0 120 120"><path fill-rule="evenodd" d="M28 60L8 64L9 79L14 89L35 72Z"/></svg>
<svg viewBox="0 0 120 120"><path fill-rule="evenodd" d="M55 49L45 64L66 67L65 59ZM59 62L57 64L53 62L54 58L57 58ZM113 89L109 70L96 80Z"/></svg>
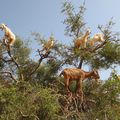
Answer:
<svg viewBox="0 0 120 120"><path fill-rule="evenodd" d="M50 88L21 82L0 91L0 119L47 120L57 116L59 105Z"/></svg>

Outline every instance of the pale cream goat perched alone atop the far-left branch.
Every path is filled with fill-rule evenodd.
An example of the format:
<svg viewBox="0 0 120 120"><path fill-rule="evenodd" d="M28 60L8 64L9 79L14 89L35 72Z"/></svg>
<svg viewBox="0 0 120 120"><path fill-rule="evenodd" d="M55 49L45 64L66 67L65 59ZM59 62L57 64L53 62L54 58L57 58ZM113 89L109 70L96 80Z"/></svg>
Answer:
<svg viewBox="0 0 120 120"><path fill-rule="evenodd" d="M10 47L15 42L15 35L11 31L11 29L8 28L7 25L5 25L5 24L1 24L0 29L4 30L4 32L5 32L4 37L3 37L3 44L5 44L7 47L7 50L10 51Z"/></svg>

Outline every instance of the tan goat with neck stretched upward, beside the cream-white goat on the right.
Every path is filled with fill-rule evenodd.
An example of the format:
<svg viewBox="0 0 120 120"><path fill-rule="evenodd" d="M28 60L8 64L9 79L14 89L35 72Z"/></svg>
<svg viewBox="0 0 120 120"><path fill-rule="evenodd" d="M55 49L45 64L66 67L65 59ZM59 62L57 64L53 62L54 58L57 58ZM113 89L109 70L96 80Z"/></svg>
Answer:
<svg viewBox="0 0 120 120"><path fill-rule="evenodd" d="M87 40L88 40L88 37L90 35L90 30L87 30L86 33L82 36L82 37L79 37L75 40L75 48L80 48L80 46L82 48L86 48L86 43L87 43Z"/></svg>

